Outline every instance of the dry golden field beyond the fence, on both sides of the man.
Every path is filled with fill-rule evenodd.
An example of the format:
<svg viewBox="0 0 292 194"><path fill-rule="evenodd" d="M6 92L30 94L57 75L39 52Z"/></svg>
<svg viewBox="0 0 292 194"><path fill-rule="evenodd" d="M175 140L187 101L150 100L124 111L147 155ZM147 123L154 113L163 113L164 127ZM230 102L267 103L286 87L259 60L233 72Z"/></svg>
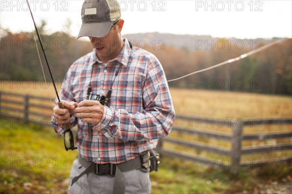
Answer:
<svg viewBox="0 0 292 194"><path fill-rule="evenodd" d="M61 83L56 83L60 90ZM221 118L292 117L292 97L244 92L171 88L177 115ZM1 91L55 99L52 83L1 81Z"/></svg>

